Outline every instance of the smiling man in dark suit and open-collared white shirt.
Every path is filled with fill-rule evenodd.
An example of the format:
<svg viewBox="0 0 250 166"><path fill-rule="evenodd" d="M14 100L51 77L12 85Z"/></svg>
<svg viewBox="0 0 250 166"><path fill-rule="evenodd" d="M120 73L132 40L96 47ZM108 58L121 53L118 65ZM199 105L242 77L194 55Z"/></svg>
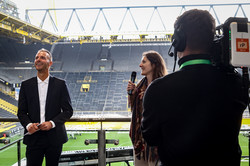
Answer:
<svg viewBox="0 0 250 166"><path fill-rule="evenodd" d="M52 55L41 49L35 56L37 76L22 82L17 116L25 128L27 166L58 165L68 137L64 123L73 114L64 80L50 76Z"/></svg>

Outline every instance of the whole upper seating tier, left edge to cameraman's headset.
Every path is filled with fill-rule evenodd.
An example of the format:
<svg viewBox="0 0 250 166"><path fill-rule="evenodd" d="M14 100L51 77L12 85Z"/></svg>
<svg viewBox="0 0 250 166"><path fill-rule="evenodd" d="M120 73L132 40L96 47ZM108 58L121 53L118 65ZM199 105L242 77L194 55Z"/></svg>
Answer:
<svg viewBox="0 0 250 166"><path fill-rule="evenodd" d="M51 70L64 72L86 71L139 71L144 51L158 51L171 71L173 58L167 55L167 43L121 43L114 46L102 43L56 43L46 45L29 43L24 45L13 39L0 37L0 69L30 69L36 52L46 48L53 54Z"/></svg>

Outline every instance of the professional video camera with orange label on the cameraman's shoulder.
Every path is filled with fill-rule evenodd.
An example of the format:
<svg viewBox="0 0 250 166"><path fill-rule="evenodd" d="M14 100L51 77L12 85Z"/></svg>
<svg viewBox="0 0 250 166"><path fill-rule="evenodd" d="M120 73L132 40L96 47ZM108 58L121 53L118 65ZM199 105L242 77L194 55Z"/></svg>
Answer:
<svg viewBox="0 0 250 166"><path fill-rule="evenodd" d="M213 47L215 65L250 67L250 22L247 18L230 17L216 27Z"/></svg>

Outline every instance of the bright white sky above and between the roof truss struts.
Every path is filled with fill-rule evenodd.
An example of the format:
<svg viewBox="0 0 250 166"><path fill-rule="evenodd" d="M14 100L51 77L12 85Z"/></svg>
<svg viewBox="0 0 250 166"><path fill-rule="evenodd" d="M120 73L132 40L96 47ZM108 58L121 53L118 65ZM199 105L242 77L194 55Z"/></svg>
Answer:
<svg viewBox="0 0 250 166"><path fill-rule="evenodd" d="M164 6L164 5L197 5L197 4L235 4L235 3L250 3L250 0L11 0L16 3L18 7L19 17L22 20L25 20L25 10L26 9L49 9L49 8L88 8L88 7L128 7L128 6ZM247 9L244 9L246 14L250 17L250 5L247 6ZM205 10L208 10L209 7L205 7ZM220 18L220 22L217 24L223 23L226 18L232 15L236 11L235 7L225 7L218 8L216 10L216 14ZM98 17L98 21L96 22L96 26L94 27L94 22L96 20L98 10L78 10L77 14L82 22L84 27L84 31L86 33L90 33L95 28L96 32L108 32L114 31L129 31L133 32L136 30L134 26L131 15L128 13L122 22L122 18L124 17L124 13L126 9L121 9L113 12L114 10L105 10L104 15L101 13ZM159 9L160 17L157 12L153 15L152 9L131 9L131 13L136 21L139 30L145 31L162 31L167 29L167 31L173 31L173 23L176 17L180 14L181 8L176 9ZM249 12L248 12L249 11ZM72 11L54 11L51 12L51 16L55 21L57 26L56 33L58 34L78 34L82 33L82 29L79 26L79 21L75 14L73 14L72 20L70 22L70 26L65 31L66 24L69 22L70 15ZM214 13L211 13L214 17ZM42 18L45 15L45 11L40 12L29 12L29 18L33 25L40 26L42 22ZM242 15L242 14L241 14ZM105 17L108 20L108 24L111 27L111 30L108 28ZM152 20L150 21L150 17ZM162 20L161 20L162 19ZM122 25L121 25L122 24ZM164 25L163 25L164 24ZM51 26L51 20L48 16L45 19L43 29L48 31L55 31Z"/></svg>

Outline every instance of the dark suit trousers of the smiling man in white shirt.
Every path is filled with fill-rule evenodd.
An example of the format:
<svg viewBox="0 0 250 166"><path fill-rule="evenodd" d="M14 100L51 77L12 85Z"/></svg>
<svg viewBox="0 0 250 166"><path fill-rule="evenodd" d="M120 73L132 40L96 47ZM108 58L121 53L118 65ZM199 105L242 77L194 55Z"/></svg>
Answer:
<svg viewBox="0 0 250 166"><path fill-rule="evenodd" d="M61 145L51 145L49 135L44 131L38 131L39 137L35 145L27 145L27 166L41 166L45 157L46 166L57 166L62 153Z"/></svg>

